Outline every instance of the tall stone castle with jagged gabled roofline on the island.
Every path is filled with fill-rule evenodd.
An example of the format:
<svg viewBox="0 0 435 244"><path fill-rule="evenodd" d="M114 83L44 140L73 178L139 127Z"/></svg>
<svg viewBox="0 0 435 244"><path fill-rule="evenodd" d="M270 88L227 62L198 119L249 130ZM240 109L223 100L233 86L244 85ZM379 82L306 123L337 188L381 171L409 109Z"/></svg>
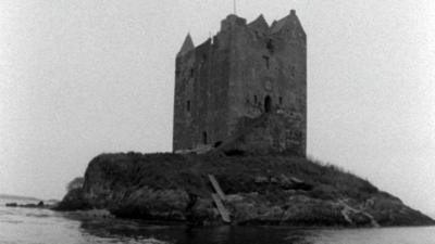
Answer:
<svg viewBox="0 0 435 244"><path fill-rule="evenodd" d="M234 14L176 56L173 150L306 155L307 37L294 10L268 25Z"/></svg>

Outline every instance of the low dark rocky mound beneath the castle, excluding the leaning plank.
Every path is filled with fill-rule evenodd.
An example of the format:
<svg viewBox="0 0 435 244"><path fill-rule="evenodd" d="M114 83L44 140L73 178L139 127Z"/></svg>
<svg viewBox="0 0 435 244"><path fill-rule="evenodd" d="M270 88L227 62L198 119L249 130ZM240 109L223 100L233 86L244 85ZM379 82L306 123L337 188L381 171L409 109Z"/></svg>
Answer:
<svg viewBox="0 0 435 244"><path fill-rule="evenodd" d="M83 189L60 209L108 209L116 217L222 223L209 175L236 224L414 226L434 220L336 167L286 155L103 154Z"/></svg>

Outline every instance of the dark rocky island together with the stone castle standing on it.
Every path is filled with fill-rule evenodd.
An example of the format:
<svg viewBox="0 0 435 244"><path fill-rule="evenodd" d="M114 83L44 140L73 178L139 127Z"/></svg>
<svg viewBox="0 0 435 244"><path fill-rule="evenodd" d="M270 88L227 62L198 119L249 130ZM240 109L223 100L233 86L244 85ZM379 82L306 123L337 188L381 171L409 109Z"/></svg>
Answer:
<svg viewBox="0 0 435 244"><path fill-rule="evenodd" d="M398 197L306 157L307 34L295 10L235 14L175 59L174 153L102 154L62 210L188 224L434 224Z"/></svg>

